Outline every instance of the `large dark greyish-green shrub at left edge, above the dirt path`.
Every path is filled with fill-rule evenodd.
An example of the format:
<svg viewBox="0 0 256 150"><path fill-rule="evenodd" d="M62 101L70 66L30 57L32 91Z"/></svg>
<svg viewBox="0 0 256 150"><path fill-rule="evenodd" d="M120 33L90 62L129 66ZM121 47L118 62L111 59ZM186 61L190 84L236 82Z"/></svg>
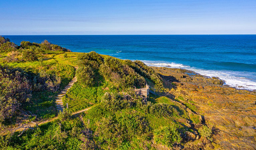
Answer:
<svg viewBox="0 0 256 150"><path fill-rule="evenodd" d="M28 75L21 69L0 65L0 122L12 117L31 97Z"/></svg>

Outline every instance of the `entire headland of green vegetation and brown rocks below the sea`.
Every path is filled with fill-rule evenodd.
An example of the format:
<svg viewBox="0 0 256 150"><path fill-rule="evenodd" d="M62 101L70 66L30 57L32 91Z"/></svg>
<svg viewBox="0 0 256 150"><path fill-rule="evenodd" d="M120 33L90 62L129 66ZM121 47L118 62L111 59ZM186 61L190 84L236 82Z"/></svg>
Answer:
<svg viewBox="0 0 256 150"><path fill-rule="evenodd" d="M4 37L0 62L1 149L256 147L256 93L216 77Z"/></svg>

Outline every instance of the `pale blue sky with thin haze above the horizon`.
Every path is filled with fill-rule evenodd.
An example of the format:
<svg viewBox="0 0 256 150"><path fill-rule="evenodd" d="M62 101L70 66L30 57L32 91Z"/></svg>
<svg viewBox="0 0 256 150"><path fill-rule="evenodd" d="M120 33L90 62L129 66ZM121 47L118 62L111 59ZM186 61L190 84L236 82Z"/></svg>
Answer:
<svg viewBox="0 0 256 150"><path fill-rule="evenodd" d="M256 34L256 0L1 0L0 35Z"/></svg>

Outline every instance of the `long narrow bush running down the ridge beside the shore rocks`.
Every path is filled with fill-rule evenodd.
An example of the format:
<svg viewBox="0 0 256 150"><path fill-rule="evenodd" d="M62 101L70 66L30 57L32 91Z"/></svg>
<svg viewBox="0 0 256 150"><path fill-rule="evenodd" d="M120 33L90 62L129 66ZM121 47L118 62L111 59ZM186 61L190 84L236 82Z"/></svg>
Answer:
<svg viewBox="0 0 256 150"><path fill-rule="evenodd" d="M125 60L124 63L132 67L141 76L152 80L155 83L155 88L157 91L162 92L164 90L162 78L154 71L154 69L150 68L139 60L136 60L134 62L131 60Z"/></svg>

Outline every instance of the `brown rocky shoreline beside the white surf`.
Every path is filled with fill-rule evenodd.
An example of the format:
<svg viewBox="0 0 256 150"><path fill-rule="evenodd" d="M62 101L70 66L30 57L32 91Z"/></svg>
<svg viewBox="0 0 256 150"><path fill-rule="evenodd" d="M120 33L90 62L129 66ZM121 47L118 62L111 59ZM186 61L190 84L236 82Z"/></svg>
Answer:
<svg viewBox="0 0 256 150"><path fill-rule="evenodd" d="M173 100L183 97L180 101L193 105L196 113L202 117L202 124L213 130L211 144L200 138L197 144L188 142L188 147L256 148L255 91L235 89L223 85L224 82L217 77L209 78L186 69L152 68L161 75L165 87L168 87L163 95Z"/></svg>

